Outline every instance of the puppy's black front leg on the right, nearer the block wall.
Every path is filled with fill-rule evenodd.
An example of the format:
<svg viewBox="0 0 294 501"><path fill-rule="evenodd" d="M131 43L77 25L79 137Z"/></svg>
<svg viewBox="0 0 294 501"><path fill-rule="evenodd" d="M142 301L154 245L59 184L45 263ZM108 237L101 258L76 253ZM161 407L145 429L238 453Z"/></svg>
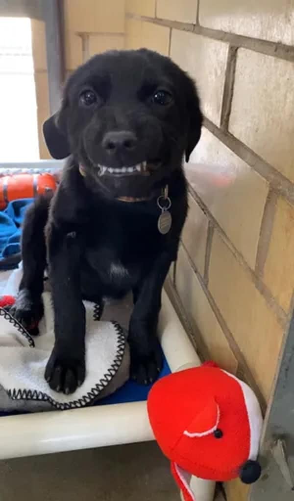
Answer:
<svg viewBox="0 0 294 501"><path fill-rule="evenodd" d="M162 369L162 351L157 339L162 288L172 263L163 253L134 291L134 309L129 325L131 377L140 384L155 381Z"/></svg>

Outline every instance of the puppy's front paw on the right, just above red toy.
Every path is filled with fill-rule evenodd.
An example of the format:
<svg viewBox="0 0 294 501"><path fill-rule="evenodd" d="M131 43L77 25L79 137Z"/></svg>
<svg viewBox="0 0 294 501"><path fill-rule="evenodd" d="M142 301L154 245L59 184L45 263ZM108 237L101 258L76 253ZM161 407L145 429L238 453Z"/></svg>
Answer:
<svg viewBox="0 0 294 501"><path fill-rule="evenodd" d="M158 344L148 355L131 349L131 379L139 384L151 384L159 376L163 367L163 355Z"/></svg>

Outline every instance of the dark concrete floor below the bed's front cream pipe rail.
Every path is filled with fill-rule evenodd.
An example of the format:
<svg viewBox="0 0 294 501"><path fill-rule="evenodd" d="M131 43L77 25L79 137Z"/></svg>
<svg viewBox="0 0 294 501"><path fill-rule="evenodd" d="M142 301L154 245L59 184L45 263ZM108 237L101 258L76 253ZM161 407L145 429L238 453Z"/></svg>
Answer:
<svg viewBox="0 0 294 501"><path fill-rule="evenodd" d="M1 501L180 501L154 442L0 462Z"/></svg>

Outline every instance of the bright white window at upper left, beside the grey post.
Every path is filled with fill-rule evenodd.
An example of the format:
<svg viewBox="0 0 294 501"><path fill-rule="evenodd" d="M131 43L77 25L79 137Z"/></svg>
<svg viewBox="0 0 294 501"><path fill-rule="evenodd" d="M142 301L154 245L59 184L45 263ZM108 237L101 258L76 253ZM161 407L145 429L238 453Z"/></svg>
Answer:
<svg viewBox="0 0 294 501"><path fill-rule="evenodd" d="M39 160L31 20L0 18L0 161Z"/></svg>

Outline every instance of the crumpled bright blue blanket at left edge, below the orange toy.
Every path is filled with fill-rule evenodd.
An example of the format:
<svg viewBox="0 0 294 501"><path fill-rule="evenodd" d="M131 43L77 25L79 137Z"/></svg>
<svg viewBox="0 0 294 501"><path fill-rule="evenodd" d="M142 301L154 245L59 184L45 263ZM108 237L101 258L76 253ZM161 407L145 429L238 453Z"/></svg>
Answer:
<svg viewBox="0 0 294 501"><path fill-rule="evenodd" d="M0 211L0 269L17 268L21 260L21 224L33 198L13 200L4 211ZM15 258L15 259L14 259Z"/></svg>

